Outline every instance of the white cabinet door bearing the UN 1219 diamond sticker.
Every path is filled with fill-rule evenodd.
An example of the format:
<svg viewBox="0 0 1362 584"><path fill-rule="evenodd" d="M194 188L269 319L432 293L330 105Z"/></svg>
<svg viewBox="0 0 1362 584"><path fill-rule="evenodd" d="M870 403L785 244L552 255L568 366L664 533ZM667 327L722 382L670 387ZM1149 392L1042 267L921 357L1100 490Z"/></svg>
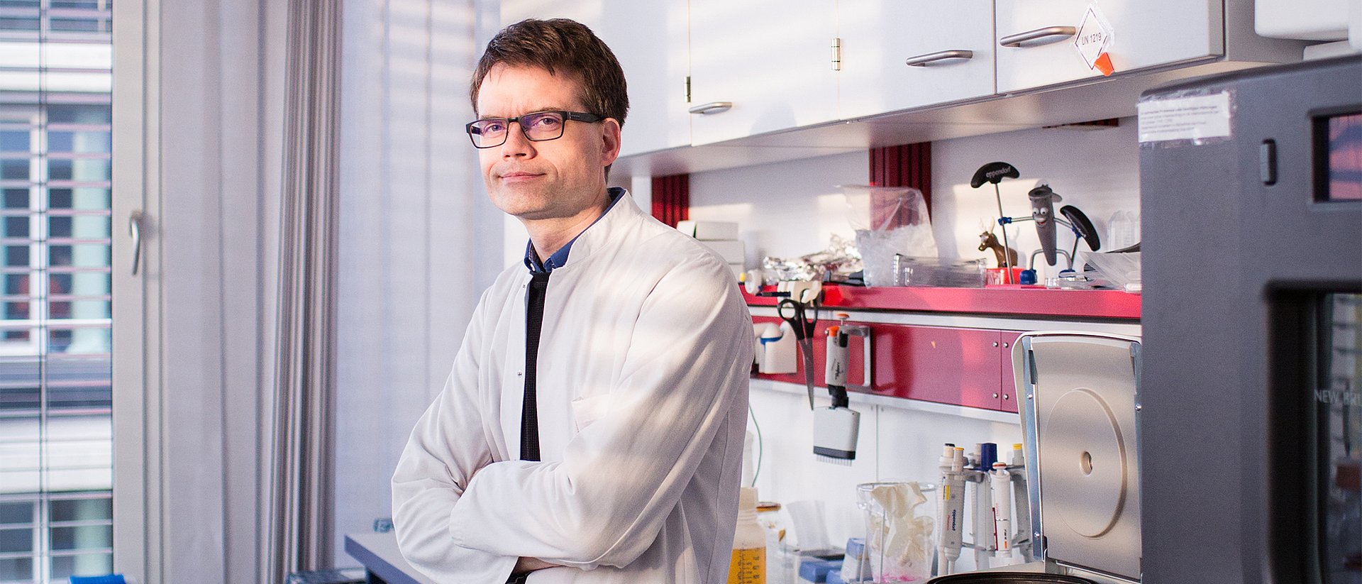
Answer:
<svg viewBox="0 0 1362 584"><path fill-rule="evenodd" d="M1088 5L1110 27L1115 75L1224 53L1220 0L1000 0L997 91L1102 76L1073 46Z"/></svg>

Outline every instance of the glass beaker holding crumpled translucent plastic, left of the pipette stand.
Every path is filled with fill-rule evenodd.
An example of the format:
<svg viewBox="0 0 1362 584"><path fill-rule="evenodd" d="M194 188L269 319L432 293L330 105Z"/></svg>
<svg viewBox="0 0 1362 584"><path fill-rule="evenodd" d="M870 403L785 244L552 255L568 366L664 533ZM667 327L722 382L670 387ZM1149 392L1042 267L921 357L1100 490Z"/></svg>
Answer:
<svg viewBox="0 0 1362 584"><path fill-rule="evenodd" d="M932 577L936 485L874 482L857 485L865 510L864 583L908 583Z"/></svg>

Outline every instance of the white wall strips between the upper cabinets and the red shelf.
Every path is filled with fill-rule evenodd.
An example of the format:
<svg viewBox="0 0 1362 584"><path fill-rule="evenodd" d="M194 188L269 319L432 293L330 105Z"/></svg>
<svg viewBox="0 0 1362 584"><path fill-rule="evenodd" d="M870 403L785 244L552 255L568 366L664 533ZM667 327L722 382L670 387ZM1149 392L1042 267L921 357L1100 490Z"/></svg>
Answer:
<svg viewBox="0 0 1362 584"><path fill-rule="evenodd" d="M941 257L992 261L993 252L979 252L978 245L979 233L998 216L997 199L992 185L971 189L970 177L993 161L1011 162L1022 173L1000 185L1002 210L1015 218L1031 216L1026 193L1041 182L1064 197L1060 206L1087 214L1103 240L1114 212L1139 212L1135 118L1122 120L1118 128L1026 129L943 140L932 144L932 222ZM866 184L868 177L868 152L697 173L691 176L691 218L740 222L748 267L756 267L761 256L824 249L834 233L853 237L836 185ZM1041 246L1030 222L1011 226L1008 236L1023 259ZM1060 249L1072 245L1073 236L1060 227Z"/></svg>

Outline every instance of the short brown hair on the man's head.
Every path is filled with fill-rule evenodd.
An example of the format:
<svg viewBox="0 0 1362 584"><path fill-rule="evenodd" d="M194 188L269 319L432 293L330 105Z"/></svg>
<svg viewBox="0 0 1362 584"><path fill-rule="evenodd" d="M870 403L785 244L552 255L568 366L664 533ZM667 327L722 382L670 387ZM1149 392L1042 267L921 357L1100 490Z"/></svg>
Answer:
<svg viewBox="0 0 1362 584"><path fill-rule="evenodd" d="M473 72L469 99L474 113L478 110L482 79L498 64L538 67L573 79L587 113L613 117L624 127L624 116L629 112L624 69L610 48L586 25L565 18L527 19L501 29L488 42L488 50Z"/></svg>

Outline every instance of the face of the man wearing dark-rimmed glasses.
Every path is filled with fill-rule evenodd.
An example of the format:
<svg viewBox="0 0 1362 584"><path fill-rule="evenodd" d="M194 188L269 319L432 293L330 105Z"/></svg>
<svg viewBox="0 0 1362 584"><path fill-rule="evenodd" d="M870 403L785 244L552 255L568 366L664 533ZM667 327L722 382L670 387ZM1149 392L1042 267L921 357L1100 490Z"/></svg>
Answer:
<svg viewBox="0 0 1362 584"><path fill-rule="evenodd" d="M478 90L478 117L587 112L577 82L537 67L496 65ZM587 112L594 113L594 112ZM571 218L603 207L605 167L620 155L620 124L567 121L563 137L530 142L518 123L505 144L478 150L492 203L520 221Z"/></svg>

